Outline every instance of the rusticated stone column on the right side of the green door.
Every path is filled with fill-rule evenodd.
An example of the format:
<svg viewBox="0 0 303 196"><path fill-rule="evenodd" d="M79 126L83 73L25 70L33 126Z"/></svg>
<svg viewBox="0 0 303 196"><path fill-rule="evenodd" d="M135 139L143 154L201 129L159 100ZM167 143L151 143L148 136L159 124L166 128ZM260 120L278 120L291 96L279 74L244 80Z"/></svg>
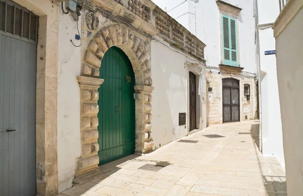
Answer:
<svg viewBox="0 0 303 196"><path fill-rule="evenodd" d="M136 99L136 154L153 151L154 140L151 135L151 93L154 87L135 86L135 92L140 93Z"/></svg>

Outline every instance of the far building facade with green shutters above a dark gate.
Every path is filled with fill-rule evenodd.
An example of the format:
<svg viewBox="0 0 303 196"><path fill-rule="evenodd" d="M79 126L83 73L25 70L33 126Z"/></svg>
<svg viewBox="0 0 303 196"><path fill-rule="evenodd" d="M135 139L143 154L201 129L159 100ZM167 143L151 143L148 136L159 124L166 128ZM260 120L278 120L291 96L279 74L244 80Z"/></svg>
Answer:
<svg viewBox="0 0 303 196"><path fill-rule="evenodd" d="M254 1L154 1L208 45L207 124L258 118Z"/></svg>

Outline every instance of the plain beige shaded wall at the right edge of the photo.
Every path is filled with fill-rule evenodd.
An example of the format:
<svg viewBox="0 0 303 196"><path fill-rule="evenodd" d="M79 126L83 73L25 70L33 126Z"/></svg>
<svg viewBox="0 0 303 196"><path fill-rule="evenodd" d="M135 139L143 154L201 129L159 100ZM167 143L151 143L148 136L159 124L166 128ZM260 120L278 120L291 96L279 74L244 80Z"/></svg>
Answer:
<svg viewBox="0 0 303 196"><path fill-rule="evenodd" d="M276 38L287 195L303 195L303 10Z"/></svg>

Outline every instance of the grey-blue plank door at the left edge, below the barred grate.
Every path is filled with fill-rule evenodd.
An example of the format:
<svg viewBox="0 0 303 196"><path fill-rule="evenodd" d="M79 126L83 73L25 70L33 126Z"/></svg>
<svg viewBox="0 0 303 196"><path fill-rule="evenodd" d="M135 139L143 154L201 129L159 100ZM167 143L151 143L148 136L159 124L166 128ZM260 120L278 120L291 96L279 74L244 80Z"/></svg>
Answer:
<svg viewBox="0 0 303 196"><path fill-rule="evenodd" d="M36 195L36 54L0 33L0 196Z"/></svg>

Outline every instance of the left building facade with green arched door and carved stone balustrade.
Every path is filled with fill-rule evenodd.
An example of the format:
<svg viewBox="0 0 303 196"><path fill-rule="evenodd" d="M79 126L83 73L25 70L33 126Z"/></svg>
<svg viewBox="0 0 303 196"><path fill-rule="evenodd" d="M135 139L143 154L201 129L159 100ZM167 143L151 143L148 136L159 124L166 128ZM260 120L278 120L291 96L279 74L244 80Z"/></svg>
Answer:
<svg viewBox="0 0 303 196"><path fill-rule="evenodd" d="M206 127L206 45L151 1L0 10L1 196L57 195Z"/></svg>

